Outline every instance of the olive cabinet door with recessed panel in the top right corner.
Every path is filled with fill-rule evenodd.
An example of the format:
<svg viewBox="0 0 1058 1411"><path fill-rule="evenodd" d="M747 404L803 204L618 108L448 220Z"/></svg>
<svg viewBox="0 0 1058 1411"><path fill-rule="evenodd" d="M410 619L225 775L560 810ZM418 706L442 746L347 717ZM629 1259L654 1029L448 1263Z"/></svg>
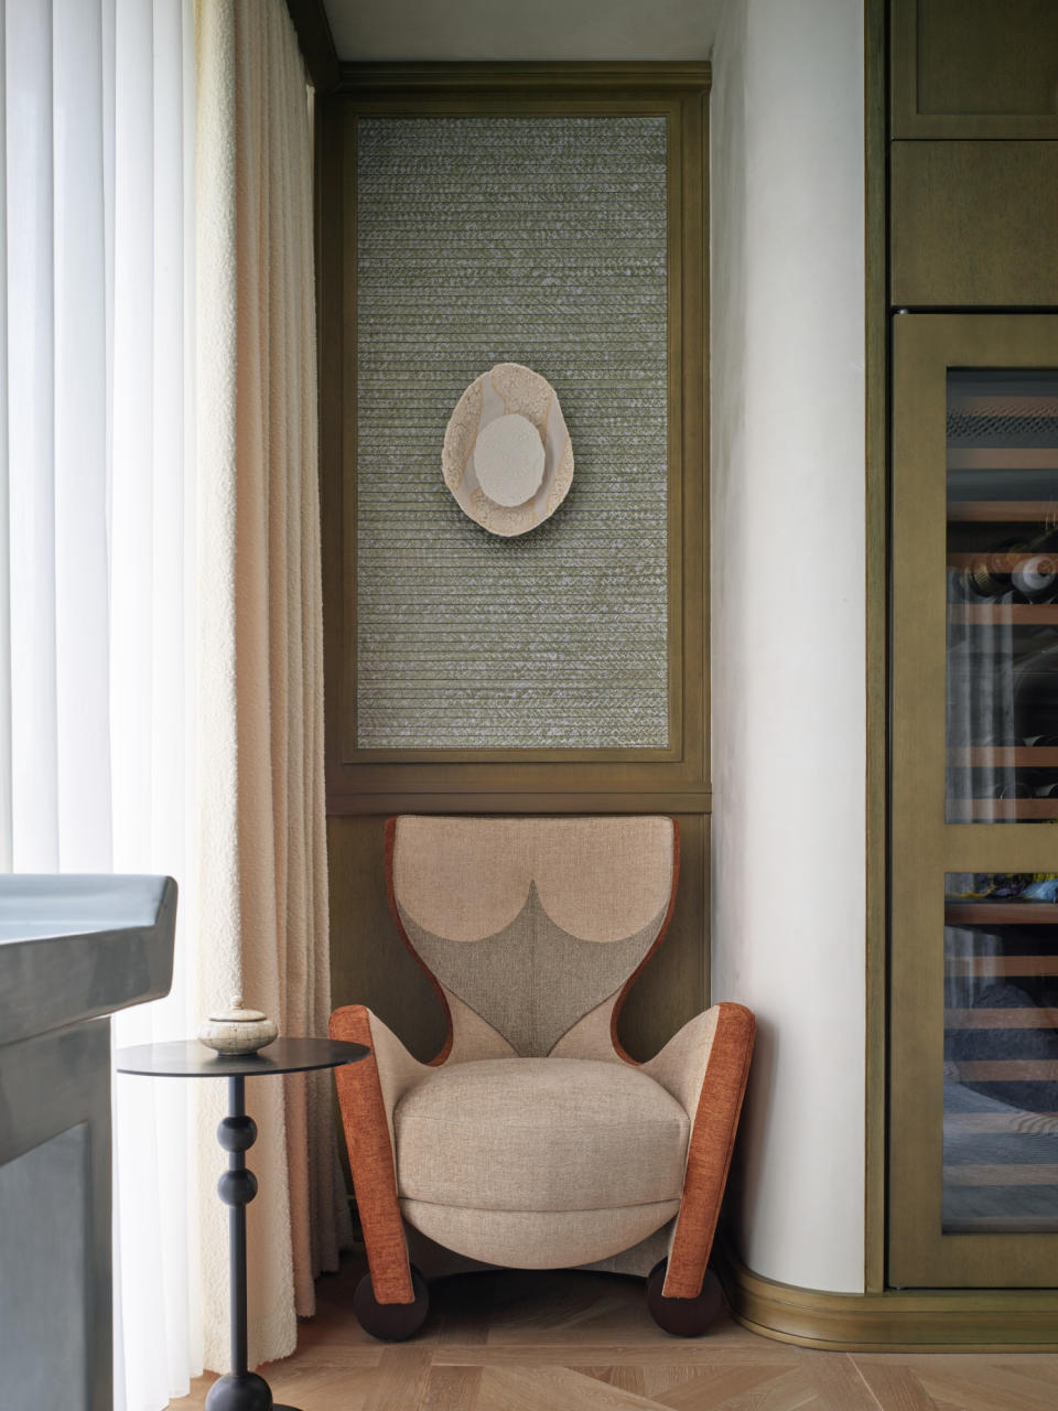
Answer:
<svg viewBox="0 0 1058 1411"><path fill-rule="evenodd" d="M893 137L1058 137L1054 0L893 0Z"/></svg>

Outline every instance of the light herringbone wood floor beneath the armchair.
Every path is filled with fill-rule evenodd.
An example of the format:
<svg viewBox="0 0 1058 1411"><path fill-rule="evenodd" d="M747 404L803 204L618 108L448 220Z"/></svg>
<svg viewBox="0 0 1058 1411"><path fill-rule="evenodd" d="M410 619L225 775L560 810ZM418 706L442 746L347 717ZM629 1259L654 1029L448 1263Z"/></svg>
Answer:
<svg viewBox="0 0 1058 1411"><path fill-rule="evenodd" d="M360 1331L350 1261L320 1280L298 1352L262 1367L300 1411L1055 1411L1058 1355L813 1352L731 1321L694 1340L650 1321L642 1283L473 1274L434 1284L422 1332ZM174 1411L200 1411L212 1377Z"/></svg>

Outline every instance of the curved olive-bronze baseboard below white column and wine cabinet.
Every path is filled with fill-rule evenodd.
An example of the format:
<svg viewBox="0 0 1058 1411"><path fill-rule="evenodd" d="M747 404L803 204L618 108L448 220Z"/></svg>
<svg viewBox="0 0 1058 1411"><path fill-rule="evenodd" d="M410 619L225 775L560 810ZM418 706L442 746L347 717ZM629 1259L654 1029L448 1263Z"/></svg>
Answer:
<svg viewBox="0 0 1058 1411"><path fill-rule="evenodd" d="M1058 1288L831 1294L763 1278L718 1249L732 1316L777 1342L831 1352L1055 1352Z"/></svg>

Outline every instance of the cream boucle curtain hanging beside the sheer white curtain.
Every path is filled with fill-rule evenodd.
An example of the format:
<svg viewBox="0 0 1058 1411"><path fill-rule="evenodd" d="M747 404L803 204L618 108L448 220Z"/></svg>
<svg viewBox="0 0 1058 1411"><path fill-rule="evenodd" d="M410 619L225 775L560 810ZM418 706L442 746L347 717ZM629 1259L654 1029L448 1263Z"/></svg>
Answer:
<svg viewBox="0 0 1058 1411"><path fill-rule="evenodd" d="M284 0L197 0L202 1006L288 1036L330 1012L312 137ZM254 1079L250 1363L295 1348L348 1219L329 1075ZM220 1084L200 1099L221 1115ZM203 1164L206 1366L227 1366L227 1212Z"/></svg>

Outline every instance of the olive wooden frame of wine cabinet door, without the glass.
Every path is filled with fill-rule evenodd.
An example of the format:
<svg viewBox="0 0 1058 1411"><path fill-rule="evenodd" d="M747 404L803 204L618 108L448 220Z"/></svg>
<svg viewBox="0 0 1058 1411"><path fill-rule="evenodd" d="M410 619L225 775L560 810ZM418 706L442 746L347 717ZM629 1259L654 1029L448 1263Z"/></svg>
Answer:
<svg viewBox="0 0 1058 1411"><path fill-rule="evenodd" d="M941 1233L945 873L1050 872L1058 858L1042 824L944 821L949 367L1058 367L1058 316L901 315L893 326L889 1281L1050 1287L1058 1235Z"/></svg>

